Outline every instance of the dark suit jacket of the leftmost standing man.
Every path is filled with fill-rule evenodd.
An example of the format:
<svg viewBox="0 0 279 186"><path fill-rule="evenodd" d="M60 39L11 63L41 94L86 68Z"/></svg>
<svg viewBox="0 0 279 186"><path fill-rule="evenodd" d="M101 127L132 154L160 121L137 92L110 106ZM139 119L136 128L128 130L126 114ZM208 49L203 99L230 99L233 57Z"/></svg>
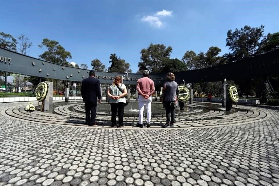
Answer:
<svg viewBox="0 0 279 186"><path fill-rule="evenodd" d="M97 102L101 99L100 81L94 77L82 80L81 96L85 102Z"/></svg>

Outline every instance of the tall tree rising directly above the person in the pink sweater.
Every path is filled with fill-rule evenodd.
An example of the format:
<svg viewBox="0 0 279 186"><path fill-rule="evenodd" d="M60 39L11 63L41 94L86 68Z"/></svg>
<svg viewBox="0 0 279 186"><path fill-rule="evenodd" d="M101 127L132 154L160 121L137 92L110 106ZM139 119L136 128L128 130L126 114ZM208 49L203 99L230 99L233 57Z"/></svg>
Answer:
<svg viewBox="0 0 279 186"><path fill-rule="evenodd" d="M138 63L139 71L149 70L151 73L162 72L162 63L171 56L171 46L166 47L164 44L150 44L147 49L142 49Z"/></svg>

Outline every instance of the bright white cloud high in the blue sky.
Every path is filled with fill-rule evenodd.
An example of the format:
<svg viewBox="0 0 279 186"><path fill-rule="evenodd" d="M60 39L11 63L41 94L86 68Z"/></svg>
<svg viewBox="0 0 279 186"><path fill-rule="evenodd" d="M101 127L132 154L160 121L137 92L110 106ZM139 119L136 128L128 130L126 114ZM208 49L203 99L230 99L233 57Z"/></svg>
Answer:
<svg viewBox="0 0 279 186"><path fill-rule="evenodd" d="M164 26L164 24L159 17L171 16L171 15L172 15L172 11L162 10L162 11L158 11L155 15L148 15L142 17L142 21L149 22L151 26L161 28L162 26Z"/></svg>

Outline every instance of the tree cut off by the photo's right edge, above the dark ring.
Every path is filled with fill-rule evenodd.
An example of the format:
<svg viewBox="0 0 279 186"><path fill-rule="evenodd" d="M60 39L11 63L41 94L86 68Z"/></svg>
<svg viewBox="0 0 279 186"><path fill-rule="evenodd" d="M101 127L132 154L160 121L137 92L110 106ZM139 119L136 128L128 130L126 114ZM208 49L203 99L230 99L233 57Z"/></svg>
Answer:
<svg viewBox="0 0 279 186"><path fill-rule="evenodd" d="M259 44L257 53L266 53L276 49L279 49L279 32L268 33Z"/></svg>

